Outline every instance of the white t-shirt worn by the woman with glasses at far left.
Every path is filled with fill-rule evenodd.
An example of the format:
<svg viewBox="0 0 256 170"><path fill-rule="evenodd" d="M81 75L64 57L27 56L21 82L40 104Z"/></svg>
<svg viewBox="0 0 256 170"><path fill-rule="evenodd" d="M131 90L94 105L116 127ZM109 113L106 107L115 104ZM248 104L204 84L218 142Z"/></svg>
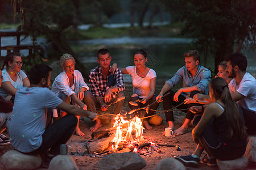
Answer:
<svg viewBox="0 0 256 170"><path fill-rule="evenodd" d="M16 73L17 80L16 82L14 82L14 80L11 79L10 75L6 72L6 69L3 69L2 74L3 74L3 82L10 82L11 84L13 84L13 87L15 87L16 89L23 87L23 79L27 77L24 71L20 70L18 73ZM3 96L3 99L5 99L5 97L10 94L1 87L0 95Z"/></svg>

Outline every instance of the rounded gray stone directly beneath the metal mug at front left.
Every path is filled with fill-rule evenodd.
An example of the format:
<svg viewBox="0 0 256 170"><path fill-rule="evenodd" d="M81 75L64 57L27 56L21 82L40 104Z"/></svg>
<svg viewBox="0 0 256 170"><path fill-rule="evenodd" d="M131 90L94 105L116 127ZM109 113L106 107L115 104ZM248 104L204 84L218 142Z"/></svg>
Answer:
<svg viewBox="0 0 256 170"><path fill-rule="evenodd" d="M75 160L70 155L57 155L50 164L49 170L78 170Z"/></svg>

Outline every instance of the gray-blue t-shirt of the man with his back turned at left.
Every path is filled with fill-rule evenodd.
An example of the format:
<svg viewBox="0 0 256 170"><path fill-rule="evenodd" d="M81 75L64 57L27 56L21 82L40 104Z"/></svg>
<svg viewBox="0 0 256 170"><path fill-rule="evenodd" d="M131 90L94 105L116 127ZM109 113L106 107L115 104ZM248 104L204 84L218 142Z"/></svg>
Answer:
<svg viewBox="0 0 256 170"><path fill-rule="evenodd" d="M21 152L32 152L43 142L47 108L56 108L62 100L46 87L20 87L11 114L11 145Z"/></svg>

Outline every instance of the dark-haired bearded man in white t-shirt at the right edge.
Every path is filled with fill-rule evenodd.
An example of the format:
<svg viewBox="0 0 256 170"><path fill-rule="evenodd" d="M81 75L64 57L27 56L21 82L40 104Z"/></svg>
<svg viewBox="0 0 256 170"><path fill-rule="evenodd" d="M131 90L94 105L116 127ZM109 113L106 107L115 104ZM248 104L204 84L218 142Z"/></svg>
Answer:
<svg viewBox="0 0 256 170"><path fill-rule="evenodd" d="M242 53L232 53L225 58L229 90L234 101L242 108L248 134L256 134L256 80L246 73L247 59Z"/></svg>

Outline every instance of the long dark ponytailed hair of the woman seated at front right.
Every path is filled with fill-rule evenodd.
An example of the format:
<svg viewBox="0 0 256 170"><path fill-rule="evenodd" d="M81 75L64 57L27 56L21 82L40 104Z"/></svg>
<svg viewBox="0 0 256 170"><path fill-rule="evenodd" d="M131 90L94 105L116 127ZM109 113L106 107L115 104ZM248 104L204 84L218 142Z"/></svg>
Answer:
<svg viewBox="0 0 256 170"><path fill-rule="evenodd" d="M219 77L214 78L210 81L210 87L214 91L214 95L220 97L220 100L225 105L228 123L227 139L232 138L234 134L241 138L245 137L245 125L243 124L237 103L232 100L226 80Z"/></svg>

